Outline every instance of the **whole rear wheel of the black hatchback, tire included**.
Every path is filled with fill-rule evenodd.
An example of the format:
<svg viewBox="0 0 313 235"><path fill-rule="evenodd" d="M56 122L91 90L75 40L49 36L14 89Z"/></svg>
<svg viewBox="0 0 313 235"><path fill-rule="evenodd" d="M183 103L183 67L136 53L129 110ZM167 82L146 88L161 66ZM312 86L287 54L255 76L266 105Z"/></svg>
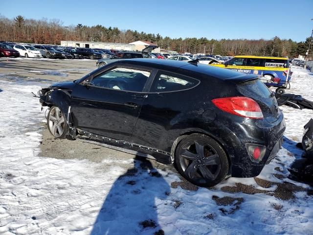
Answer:
<svg viewBox="0 0 313 235"><path fill-rule="evenodd" d="M227 176L229 163L222 146L203 134L191 134L181 140L175 151L179 173L200 187L212 187Z"/></svg>

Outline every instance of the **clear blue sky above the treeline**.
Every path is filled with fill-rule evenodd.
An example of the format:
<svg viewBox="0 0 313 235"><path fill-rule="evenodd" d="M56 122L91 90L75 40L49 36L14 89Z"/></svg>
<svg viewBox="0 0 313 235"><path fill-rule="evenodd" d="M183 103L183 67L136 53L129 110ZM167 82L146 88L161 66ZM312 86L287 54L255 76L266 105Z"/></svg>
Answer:
<svg viewBox="0 0 313 235"><path fill-rule="evenodd" d="M0 14L60 19L64 26L106 27L172 38L304 41L313 28L313 0L1 0Z"/></svg>

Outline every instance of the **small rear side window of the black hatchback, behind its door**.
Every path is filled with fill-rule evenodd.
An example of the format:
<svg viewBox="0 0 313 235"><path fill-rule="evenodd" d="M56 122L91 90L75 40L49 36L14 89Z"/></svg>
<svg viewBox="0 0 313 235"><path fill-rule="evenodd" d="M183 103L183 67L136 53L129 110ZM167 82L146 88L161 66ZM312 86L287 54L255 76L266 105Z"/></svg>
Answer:
<svg viewBox="0 0 313 235"><path fill-rule="evenodd" d="M177 73L158 71L152 83L150 92L174 92L193 88L199 80Z"/></svg>

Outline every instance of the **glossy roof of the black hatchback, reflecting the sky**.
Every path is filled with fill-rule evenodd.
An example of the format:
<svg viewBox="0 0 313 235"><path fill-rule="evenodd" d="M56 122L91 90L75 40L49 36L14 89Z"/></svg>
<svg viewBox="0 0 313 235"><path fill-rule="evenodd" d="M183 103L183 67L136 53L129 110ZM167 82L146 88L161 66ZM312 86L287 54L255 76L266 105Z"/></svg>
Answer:
<svg viewBox="0 0 313 235"><path fill-rule="evenodd" d="M150 68L167 70L167 71L171 71L171 69L173 68L178 68L182 70L202 73L202 74L205 74L211 77L216 77L216 78L223 79L223 80L234 79L234 78L252 79L252 78L257 77L257 75L254 75L254 74L245 74L242 72L232 71L232 70L223 69L223 68L219 68L215 66L203 65L200 63L196 64L196 63L190 63L190 62L184 62L184 61L175 61L175 60L142 58L142 59L119 60L115 63L133 64L133 65L146 66Z"/></svg>

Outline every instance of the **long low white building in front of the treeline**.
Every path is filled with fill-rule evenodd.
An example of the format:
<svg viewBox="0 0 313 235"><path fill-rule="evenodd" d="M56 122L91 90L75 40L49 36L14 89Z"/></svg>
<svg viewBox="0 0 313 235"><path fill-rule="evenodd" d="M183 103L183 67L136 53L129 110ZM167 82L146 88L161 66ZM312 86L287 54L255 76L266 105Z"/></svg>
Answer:
<svg viewBox="0 0 313 235"><path fill-rule="evenodd" d="M80 41L61 41L62 47L86 47L114 50L136 50L135 45L127 43L103 43L103 42L80 42Z"/></svg>

